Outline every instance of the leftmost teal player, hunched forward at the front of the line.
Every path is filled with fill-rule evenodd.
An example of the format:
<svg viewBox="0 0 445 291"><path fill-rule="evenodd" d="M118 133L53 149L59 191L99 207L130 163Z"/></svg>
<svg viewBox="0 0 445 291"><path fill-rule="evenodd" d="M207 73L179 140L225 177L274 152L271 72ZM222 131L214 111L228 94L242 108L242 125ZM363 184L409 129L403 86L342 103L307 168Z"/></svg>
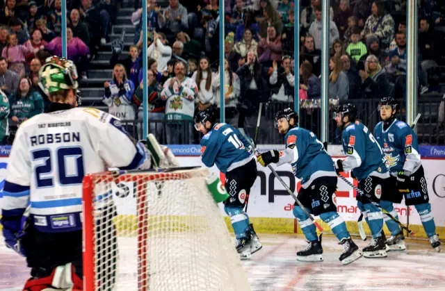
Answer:
<svg viewBox="0 0 445 291"><path fill-rule="evenodd" d="M201 159L207 167L216 167L225 174L225 189L229 193L224 209L230 217L236 237L236 251L241 259L250 258L261 249L249 217L243 211L246 197L257 179L257 163L247 140L238 129L216 123L213 110L202 110L195 115L195 128L204 136L201 140Z"/></svg>

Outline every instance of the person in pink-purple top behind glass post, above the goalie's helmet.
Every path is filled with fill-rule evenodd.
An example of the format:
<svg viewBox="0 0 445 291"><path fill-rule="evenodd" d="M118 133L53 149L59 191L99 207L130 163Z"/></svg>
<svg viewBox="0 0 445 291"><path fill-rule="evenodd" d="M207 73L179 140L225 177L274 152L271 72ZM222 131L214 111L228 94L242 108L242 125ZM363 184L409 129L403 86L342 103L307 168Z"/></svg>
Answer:
<svg viewBox="0 0 445 291"><path fill-rule="evenodd" d="M45 46L55 56L62 56L62 38L57 36ZM80 39L72 36L72 29L67 27L67 59L72 60L77 67L77 72L83 79L87 78L88 57L90 49Z"/></svg>

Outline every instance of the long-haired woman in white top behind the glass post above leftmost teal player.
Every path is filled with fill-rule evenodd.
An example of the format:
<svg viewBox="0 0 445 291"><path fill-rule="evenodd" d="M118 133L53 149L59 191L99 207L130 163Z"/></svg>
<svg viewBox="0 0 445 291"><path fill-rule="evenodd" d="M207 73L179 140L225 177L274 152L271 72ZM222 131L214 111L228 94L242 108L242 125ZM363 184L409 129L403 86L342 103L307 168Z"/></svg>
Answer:
<svg viewBox="0 0 445 291"><path fill-rule="evenodd" d="M232 72L232 68L229 65L229 61L224 59L224 108L225 108L225 119L229 124L236 126L235 117L238 114L236 110L236 104L238 103L238 97L240 94L240 81L238 76ZM216 110L217 115L219 114L221 107L220 104L220 68L218 68L218 74L215 75L213 80L213 87L215 88L215 104L218 110Z"/></svg>

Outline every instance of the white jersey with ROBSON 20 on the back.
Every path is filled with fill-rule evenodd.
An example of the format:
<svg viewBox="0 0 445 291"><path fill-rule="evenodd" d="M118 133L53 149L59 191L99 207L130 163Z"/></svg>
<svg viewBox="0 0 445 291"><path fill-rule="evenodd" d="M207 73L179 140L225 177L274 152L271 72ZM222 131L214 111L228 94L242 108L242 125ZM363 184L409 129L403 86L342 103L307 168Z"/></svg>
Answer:
<svg viewBox="0 0 445 291"><path fill-rule="evenodd" d="M149 167L149 154L119 119L95 108L42 113L17 131L6 169L2 215L31 205L35 229L80 230L83 176L109 167Z"/></svg>

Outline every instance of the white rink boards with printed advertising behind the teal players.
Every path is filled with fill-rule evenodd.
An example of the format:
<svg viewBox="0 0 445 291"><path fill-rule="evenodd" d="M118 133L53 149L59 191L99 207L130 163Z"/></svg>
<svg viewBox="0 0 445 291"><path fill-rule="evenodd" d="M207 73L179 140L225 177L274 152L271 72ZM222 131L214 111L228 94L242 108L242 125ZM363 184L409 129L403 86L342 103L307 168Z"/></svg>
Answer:
<svg viewBox="0 0 445 291"><path fill-rule="evenodd" d="M188 166L204 166L200 159L200 146L171 146L170 147L177 156L182 167ZM283 149L282 146L264 145L259 146L260 151L267 151L269 149ZM333 159L342 158L343 152L341 147L331 146L328 151ZM423 147L420 150L423 153L422 164L425 169L426 180L428 183L428 193L430 196L430 203L432 205L432 213L435 217L437 226L445 228L445 147ZM3 188L4 177L6 175L6 165L8 163L9 149L0 149L0 189ZM282 165L280 167L274 166L275 171L282 179L289 185L291 190L300 188L300 183L296 180L291 172L290 165ZM211 172L220 174L216 166L211 168ZM345 176L352 183L357 185L357 181ZM357 209L357 202L355 200L356 192L352 190L344 181L338 180L338 190L336 192L335 200L337 202L337 210L339 214L346 220L348 225L356 225L352 222L357 222L360 211ZM133 194L133 183L120 183L120 185L113 185L114 198L126 199L126 207L119 207L118 213L122 215L131 215L136 213L136 199ZM0 192L1 195L1 192ZM117 203L119 205L120 203ZM293 198L284 190L284 187L275 178L267 167L262 167L258 164L258 177L251 190L248 215L250 217L267 217L264 224L268 224L265 230L275 232L289 232L289 225L286 229L282 224L293 224ZM407 207L404 203L395 205L396 211L401 222L407 221ZM223 205L220 203L220 210L223 215ZM420 226L421 222L419 215L413 206L410 208L410 225ZM255 220L255 219L254 219ZM289 220L289 221L288 221ZM354 228L354 226L352 226ZM441 227L441 228L442 228ZM296 229L296 228L295 228ZM421 227L416 228L421 229ZM351 230L352 233L355 231ZM414 231L416 232L416 231Z"/></svg>

